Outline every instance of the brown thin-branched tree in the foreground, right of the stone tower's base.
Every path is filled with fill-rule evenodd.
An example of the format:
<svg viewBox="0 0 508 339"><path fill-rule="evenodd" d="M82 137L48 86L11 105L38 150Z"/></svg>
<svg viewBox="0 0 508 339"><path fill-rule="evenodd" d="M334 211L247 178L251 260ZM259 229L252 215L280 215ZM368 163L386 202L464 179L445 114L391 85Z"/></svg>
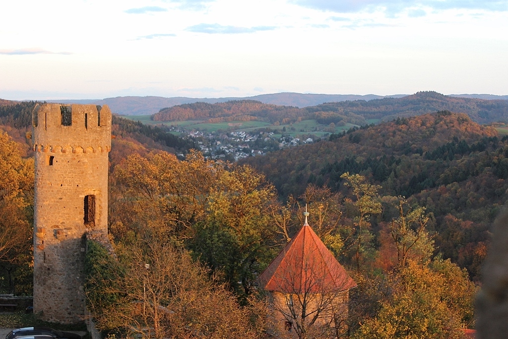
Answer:
<svg viewBox="0 0 508 339"><path fill-rule="evenodd" d="M185 250L156 239L90 244L85 295L102 330L143 338L244 338L258 332L236 297Z"/></svg>

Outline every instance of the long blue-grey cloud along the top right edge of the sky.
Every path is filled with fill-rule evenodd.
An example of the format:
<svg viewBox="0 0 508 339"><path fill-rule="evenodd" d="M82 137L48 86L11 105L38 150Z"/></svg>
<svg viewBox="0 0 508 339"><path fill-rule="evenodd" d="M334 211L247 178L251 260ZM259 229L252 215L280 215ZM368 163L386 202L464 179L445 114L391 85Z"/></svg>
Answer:
<svg viewBox="0 0 508 339"><path fill-rule="evenodd" d="M350 13L383 9L389 13L399 13L408 8L430 7L436 10L474 9L488 11L508 11L506 0L291 0L293 4L321 11Z"/></svg>

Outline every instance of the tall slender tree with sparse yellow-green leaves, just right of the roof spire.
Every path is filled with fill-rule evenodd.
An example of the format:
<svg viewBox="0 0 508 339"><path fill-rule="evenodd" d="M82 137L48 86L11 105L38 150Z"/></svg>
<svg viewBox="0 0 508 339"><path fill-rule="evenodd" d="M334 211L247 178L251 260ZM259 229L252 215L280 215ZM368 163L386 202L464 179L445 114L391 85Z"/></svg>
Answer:
<svg viewBox="0 0 508 339"><path fill-rule="evenodd" d="M346 186L352 188L355 198L355 201L352 203L356 207L354 212L356 214L354 224L357 227L355 259L357 271L360 271L360 253L362 251L362 242L369 236L370 215L381 212L381 203L377 201L377 192L381 187L367 182L366 178L360 174L349 174L349 172L346 172L340 177L346 180L344 183Z"/></svg>

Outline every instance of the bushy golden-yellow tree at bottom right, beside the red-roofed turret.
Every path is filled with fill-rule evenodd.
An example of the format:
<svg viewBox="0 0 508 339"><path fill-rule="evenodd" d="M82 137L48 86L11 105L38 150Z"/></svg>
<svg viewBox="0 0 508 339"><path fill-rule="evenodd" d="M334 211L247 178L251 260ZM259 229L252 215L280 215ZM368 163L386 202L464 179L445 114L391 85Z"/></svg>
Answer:
<svg viewBox="0 0 508 339"><path fill-rule="evenodd" d="M393 294L381 302L375 318L364 321L356 339L460 338L461 316L448 297L441 272L409 260L391 279ZM448 299L448 300L447 300Z"/></svg>

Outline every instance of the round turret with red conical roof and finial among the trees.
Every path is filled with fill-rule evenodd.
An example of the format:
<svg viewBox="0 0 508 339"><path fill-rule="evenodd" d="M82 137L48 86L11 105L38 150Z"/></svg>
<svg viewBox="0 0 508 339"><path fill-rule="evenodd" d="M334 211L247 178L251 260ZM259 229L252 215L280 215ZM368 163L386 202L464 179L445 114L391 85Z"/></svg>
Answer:
<svg viewBox="0 0 508 339"><path fill-rule="evenodd" d="M357 286L304 214L298 234L257 279L269 293L276 316L299 337L317 325L344 329L349 290Z"/></svg>

